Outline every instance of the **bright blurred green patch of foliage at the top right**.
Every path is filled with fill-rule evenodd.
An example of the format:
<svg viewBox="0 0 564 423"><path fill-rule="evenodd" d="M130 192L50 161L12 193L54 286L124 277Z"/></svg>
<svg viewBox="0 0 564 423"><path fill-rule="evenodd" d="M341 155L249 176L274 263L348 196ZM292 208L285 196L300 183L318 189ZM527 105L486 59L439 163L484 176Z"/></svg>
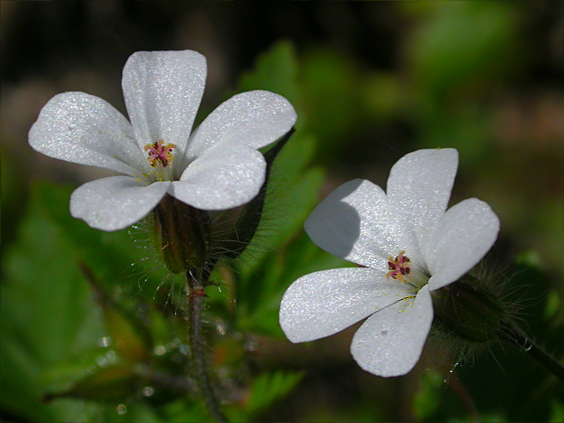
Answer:
<svg viewBox="0 0 564 423"><path fill-rule="evenodd" d="M514 32L515 8L506 2L442 4L412 34L413 75L438 98L475 90L510 65Z"/></svg>

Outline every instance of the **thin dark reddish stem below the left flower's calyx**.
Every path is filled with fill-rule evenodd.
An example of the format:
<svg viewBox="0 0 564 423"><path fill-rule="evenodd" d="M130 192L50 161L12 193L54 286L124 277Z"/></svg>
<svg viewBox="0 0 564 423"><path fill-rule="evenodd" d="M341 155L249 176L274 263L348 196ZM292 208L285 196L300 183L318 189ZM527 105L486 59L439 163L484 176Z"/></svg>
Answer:
<svg viewBox="0 0 564 423"><path fill-rule="evenodd" d="M200 387L200 393L204 397L209 414L216 422L227 422L225 415L221 412L219 402L209 380L206 360L204 358L204 345L202 340L202 306L204 298L207 296L204 292L204 286L200 279L195 277L192 271L186 272L188 281L188 312L190 317L190 350L192 351L192 362L196 369L196 379Z"/></svg>

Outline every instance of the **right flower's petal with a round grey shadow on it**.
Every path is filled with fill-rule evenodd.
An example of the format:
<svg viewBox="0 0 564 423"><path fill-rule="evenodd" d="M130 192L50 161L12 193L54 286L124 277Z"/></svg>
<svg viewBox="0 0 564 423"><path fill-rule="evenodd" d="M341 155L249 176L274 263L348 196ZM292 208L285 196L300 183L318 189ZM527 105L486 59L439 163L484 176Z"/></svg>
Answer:
<svg viewBox="0 0 564 423"><path fill-rule="evenodd" d="M392 252L399 252L388 216L384 190L369 180L355 179L331 192L309 215L304 228L326 252L386 269Z"/></svg>

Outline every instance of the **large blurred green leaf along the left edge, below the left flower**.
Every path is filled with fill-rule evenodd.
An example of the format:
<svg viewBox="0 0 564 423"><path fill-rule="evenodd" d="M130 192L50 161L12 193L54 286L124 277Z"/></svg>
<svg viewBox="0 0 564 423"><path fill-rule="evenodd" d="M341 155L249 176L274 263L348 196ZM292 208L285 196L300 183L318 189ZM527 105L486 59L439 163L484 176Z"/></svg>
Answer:
<svg viewBox="0 0 564 423"><path fill-rule="evenodd" d="M40 374L92 348L103 334L78 269L76 245L51 214L62 204L67 209L68 190L36 185L18 241L2 257L0 404L22 418L45 422L55 416L39 402Z"/></svg>

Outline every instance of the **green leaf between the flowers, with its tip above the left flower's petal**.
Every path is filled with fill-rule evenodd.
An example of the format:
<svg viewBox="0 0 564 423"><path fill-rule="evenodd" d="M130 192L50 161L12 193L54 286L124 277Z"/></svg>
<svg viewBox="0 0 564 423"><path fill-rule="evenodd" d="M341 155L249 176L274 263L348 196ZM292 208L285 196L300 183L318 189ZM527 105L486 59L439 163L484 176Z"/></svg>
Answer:
<svg viewBox="0 0 564 423"><path fill-rule="evenodd" d="M240 88L277 89L300 104L297 70L292 47L282 42L243 75ZM235 266L238 326L243 331L283 336L278 308L290 283L309 271L346 265L315 247L302 231L319 202L324 178L321 168L311 166L316 151L317 138L298 130L274 161L257 233Z"/></svg>

